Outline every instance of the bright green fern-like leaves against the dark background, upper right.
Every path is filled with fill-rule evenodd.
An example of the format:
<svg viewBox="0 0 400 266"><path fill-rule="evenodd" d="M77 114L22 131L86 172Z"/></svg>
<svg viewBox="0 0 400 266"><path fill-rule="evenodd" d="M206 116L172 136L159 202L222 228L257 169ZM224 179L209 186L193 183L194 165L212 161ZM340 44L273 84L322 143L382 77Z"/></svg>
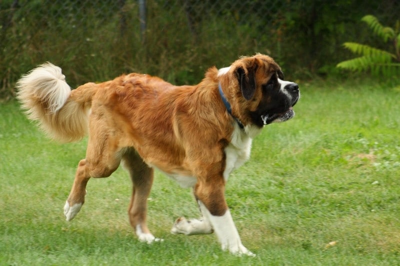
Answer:
<svg viewBox="0 0 400 266"><path fill-rule="evenodd" d="M394 50L390 52L380 48L371 47L369 45L356 42L345 42L343 46L352 53L361 56L345 60L337 64L337 67L349 69L351 71L370 70L372 74L384 76L392 76L398 74L400 69L400 26L397 20L395 28L384 27L376 17L366 15L361 19L372 30L373 34L380 37L384 43L391 41L390 48ZM393 49L394 48L394 49Z"/></svg>

